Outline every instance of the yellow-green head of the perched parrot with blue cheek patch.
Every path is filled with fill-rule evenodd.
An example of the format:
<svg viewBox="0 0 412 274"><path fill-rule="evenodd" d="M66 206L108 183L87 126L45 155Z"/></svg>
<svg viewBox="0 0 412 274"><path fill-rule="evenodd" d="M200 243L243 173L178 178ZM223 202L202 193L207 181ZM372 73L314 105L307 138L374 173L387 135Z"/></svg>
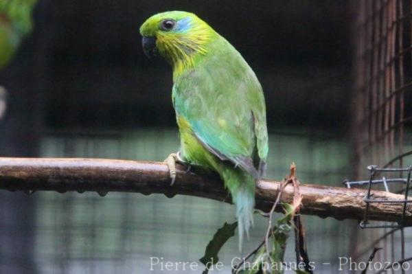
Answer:
<svg viewBox="0 0 412 274"><path fill-rule="evenodd" d="M140 27L142 45L149 58L159 53L174 67L190 65L196 55L206 54L205 45L216 32L190 12L162 12Z"/></svg>

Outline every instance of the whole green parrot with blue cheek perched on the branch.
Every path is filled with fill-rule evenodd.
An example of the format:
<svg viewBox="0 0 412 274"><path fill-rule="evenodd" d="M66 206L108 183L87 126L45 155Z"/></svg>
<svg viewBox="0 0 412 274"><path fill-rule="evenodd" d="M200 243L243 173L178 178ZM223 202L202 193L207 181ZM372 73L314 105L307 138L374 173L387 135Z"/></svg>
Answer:
<svg viewBox="0 0 412 274"><path fill-rule="evenodd" d="M255 183L266 169L268 133L262 87L239 52L190 12L155 14L140 27L146 55L173 68L172 102L181 149L174 161L214 170L236 205L239 248L253 226ZM172 160L171 160L172 159Z"/></svg>

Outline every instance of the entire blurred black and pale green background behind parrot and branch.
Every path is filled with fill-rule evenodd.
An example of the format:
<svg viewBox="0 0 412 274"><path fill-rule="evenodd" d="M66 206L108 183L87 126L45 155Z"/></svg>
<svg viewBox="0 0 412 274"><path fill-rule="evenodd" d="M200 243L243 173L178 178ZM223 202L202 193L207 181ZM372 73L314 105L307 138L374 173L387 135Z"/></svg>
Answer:
<svg viewBox="0 0 412 274"><path fill-rule="evenodd" d="M176 151L172 71L144 56L139 26L157 12L186 10L225 36L262 83L268 178L281 180L294 161L301 182L340 186L370 164L356 150L369 143L368 127L354 123L365 104L356 98L361 8L351 1L15 2L25 1L34 5L34 28L0 71L7 90L0 96L7 102L1 156L163 161ZM372 1L362 2L375 10ZM8 23L6 15L0 23ZM405 128L402 144L410 143ZM150 257L198 261L216 229L234 220L231 205L187 196L1 191L0 273L163 273L148 271ZM361 249L370 234L358 234L347 220L304 221L315 273L336 271L338 258ZM244 250L263 238L267 220L256 222ZM403 242L411 242L408 233ZM286 261L294 255L292 239ZM220 252L222 273L235 256L232 238Z"/></svg>

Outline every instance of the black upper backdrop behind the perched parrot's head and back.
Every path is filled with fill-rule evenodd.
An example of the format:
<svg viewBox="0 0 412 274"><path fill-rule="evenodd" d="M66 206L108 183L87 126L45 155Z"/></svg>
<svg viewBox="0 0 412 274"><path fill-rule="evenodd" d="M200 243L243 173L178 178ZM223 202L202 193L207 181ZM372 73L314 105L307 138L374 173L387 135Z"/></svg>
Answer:
<svg viewBox="0 0 412 274"><path fill-rule="evenodd" d="M347 1L39 1L0 82L42 109L44 128L174 126L171 69L144 56L139 35L165 10L198 14L238 49L264 87L270 130L347 126Z"/></svg>

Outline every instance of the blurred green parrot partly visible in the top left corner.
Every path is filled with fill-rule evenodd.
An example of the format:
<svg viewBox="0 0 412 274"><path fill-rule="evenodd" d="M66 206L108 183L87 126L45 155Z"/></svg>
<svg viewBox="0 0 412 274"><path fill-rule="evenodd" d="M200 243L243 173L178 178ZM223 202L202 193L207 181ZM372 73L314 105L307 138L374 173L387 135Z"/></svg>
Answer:
<svg viewBox="0 0 412 274"><path fill-rule="evenodd" d="M32 31L36 0L0 0L0 70L4 69L21 41Z"/></svg>

